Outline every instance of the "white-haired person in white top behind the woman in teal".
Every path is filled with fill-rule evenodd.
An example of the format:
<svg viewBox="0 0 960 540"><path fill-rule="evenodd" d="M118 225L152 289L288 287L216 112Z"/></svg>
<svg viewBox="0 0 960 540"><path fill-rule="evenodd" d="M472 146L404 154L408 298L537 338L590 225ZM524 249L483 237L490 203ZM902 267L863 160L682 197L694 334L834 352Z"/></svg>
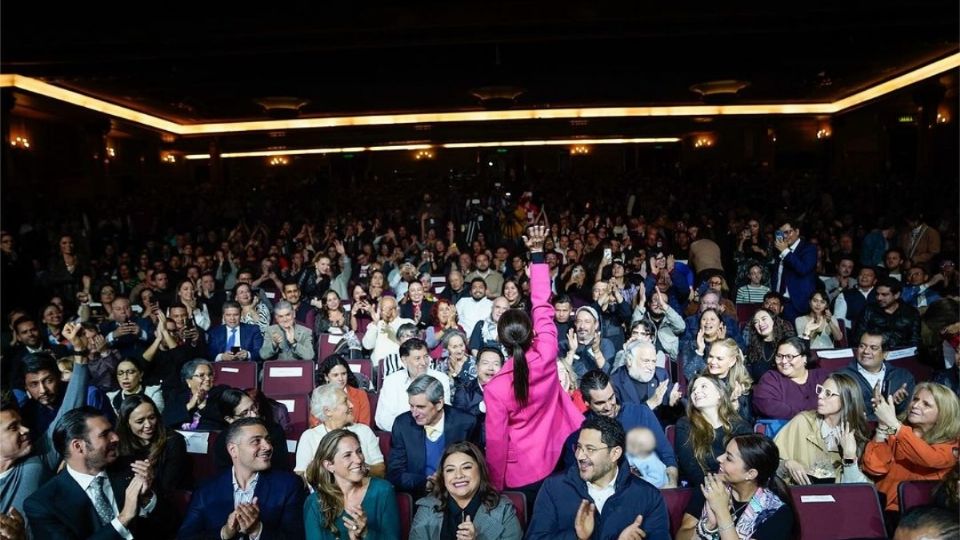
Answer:
<svg viewBox="0 0 960 540"><path fill-rule="evenodd" d="M310 413L320 421L320 424L304 431L300 436L300 442L297 443L297 462L293 472L297 474L306 472L323 436L335 429L344 428L356 433L357 438L360 439L363 462L370 470L370 474L383 478L386 473L386 464L380 452L380 440L372 429L356 423L353 404L350 403L347 393L340 388L339 384L328 383L316 387L310 394Z"/></svg>

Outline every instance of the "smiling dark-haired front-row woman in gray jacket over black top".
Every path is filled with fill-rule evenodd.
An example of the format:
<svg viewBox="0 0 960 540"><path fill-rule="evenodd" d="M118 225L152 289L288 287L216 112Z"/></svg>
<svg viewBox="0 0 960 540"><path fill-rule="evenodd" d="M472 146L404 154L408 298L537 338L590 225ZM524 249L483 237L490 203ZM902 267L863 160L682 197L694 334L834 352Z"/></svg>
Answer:
<svg viewBox="0 0 960 540"><path fill-rule="evenodd" d="M516 509L490 485L479 448L469 442L451 444L437 472L441 481L417 501L410 540L520 540Z"/></svg>

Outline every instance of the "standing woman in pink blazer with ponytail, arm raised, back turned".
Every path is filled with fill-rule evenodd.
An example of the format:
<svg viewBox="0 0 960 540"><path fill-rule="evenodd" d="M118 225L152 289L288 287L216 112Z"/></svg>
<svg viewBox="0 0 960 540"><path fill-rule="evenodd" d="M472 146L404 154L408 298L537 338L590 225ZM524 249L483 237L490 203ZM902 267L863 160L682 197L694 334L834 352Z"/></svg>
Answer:
<svg viewBox="0 0 960 540"><path fill-rule="evenodd" d="M556 467L567 436L583 423L583 415L560 386L557 374L550 270L543 263L546 234L545 227L536 226L524 238L533 263L533 323L520 309L511 309L500 317L497 333L510 358L483 388L487 464L498 491L535 490Z"/></svg>

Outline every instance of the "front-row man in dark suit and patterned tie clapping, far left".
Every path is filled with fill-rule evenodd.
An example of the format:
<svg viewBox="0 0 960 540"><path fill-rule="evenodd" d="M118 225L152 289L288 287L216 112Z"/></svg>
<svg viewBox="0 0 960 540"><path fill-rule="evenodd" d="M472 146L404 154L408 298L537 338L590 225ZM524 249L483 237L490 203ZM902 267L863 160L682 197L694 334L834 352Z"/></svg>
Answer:
<svg viewBox="0 0 960 540"><path fill-rule="evenodd" d="M100 411L84 406L63 415L53 444L66 467L24 503L34 538L129 540L162 529L149 462L110 467L120 438Z"/></svg>

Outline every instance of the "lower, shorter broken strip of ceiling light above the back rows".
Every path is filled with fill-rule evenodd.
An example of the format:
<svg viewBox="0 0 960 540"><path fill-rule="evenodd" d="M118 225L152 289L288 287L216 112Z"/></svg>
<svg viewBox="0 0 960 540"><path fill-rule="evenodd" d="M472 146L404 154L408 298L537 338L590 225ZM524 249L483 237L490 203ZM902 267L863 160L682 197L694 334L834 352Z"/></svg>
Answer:
<svg viewBox="0 0 960 540"><path fill-rule="evenodd" d="M436 145L440 148L504 148L516 146L566 146L570 144L663 144L680 142L679 137L638 137L632 139L544 139L531 141L497 141L497 142L468 142L445 143ZM302 156L313 154L349 154L357 152L395 152L401 150L428 150L430 144L396 144L388 146L355 146L347 148L302 148L297 150L258 150L253 152L224 152L221 158L243 157L273 157L273 156ZM187 154L188 160L209 159L210 154Z"/></svg>

